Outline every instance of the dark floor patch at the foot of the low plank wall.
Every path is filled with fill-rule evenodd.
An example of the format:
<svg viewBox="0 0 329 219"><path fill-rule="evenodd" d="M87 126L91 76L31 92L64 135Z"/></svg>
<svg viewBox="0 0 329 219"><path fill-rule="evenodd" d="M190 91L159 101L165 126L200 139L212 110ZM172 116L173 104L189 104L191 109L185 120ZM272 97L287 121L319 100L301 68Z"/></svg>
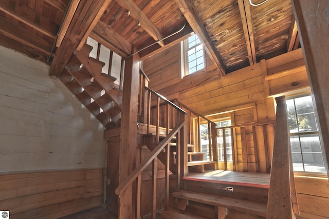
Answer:
<svg viewBox="0 0 329 219"><path fill-rule="evenodd" d="M61 217L60 219L117 219L117 216L108 212L102 206L98 206Z"/></svg>

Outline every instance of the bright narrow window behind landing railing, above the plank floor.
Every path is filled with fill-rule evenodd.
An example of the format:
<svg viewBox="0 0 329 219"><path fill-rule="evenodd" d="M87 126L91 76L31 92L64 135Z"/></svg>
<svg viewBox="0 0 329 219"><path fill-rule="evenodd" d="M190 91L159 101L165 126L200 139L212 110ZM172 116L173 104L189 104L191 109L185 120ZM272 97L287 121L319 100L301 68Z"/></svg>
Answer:
<svg viewBox="0 0 329 219"><path fill-rule="evenodd" d="M231 120L225 120L216 122L217 128L231 126ZM228 162L231 162L233 159L232 154L232 137L231 129L225 129L225 136L223 129L217 130L217 148L218 148L218 161L224 162L224 137L225 137L225 146L226 146L226 159Z"/></svg>

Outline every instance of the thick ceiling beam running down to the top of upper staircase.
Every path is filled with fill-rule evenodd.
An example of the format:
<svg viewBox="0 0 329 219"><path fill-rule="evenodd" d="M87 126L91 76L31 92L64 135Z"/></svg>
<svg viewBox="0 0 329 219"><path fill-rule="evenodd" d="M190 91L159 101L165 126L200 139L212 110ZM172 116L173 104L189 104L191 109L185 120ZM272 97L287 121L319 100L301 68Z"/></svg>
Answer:
<svg viewBox="0 0 329 219"><path fill-rule="evenodd" d="M56 55L50 65L49 74L52 76L60 76L65 65L77 49L82 37L85 35L90 25L95 20L99 10L105 3L105 0L90 1L80 0L76 13L68 27L63 38L61 46L57 49Z"/></svg>

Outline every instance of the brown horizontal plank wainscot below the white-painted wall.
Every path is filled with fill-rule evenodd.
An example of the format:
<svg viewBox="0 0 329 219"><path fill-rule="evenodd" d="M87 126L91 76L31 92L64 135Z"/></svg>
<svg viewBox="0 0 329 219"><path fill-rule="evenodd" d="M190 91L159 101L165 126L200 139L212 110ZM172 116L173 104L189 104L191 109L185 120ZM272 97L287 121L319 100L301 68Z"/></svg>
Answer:
<svg viewBox="0 0 329 219"><path fill-rule="evenodd" d="M0 209L10 218L58 218L100 206L102 169L0 175Z"/></svg>

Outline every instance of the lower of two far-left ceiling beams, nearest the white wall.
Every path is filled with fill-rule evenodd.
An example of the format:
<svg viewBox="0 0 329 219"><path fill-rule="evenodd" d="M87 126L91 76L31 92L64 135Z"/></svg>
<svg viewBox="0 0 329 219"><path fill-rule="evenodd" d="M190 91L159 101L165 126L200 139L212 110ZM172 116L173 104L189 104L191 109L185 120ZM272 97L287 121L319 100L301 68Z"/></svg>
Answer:
<svg viewBox="0 0 329 219"><path fill-rule="evenodd" d="M50 54L52 47L50 42L22 27L12 24L3 17L0 17L0 33L47 55Z"/></svg>

